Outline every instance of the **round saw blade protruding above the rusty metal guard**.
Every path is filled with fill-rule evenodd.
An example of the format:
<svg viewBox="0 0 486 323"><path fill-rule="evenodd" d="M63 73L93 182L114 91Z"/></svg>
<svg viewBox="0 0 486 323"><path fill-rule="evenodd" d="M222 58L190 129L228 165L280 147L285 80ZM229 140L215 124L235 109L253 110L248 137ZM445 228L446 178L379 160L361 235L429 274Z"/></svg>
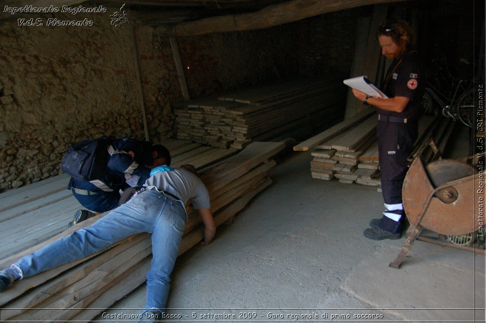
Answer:
<svg viewBox="0 0 486 323"><path fill-rule="evenodd" d="M427 164L425 169L434 188L474 174L471 166L450 159L434 161Z"/></svg>

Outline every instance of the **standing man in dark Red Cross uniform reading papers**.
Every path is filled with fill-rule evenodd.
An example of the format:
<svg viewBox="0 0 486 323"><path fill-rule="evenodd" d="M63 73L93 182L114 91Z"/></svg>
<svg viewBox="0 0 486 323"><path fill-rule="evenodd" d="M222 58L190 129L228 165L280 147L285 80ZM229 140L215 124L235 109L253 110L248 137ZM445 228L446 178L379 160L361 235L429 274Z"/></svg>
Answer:
<svg viewBox="0 0 486 323"><path fill-rule="evenodd" d="M382 194L386 210L381 219L370 221L364 236L374 240L399 239L405 220L401 189L408 170L407 157L418 136L422 96L422 70L410 26L401 20L382 23L377 38L382 54L392 60L383 86L388 99L373 98L353 89L364 104L377 107L377 126Z"/></svg>

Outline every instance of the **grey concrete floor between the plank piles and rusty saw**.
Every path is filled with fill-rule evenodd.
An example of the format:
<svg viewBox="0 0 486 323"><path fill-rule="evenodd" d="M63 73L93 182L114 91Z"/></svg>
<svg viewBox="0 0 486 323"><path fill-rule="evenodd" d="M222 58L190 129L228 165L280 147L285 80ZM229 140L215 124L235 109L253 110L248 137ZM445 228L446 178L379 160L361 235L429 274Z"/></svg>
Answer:
<svg viewBox="0 0 486 323"><path fill-rule="evenodd" d="M282 157L274 183L233 224L178 258L168 314L185 322L485 322L484 255L416 241L401 269L388 267L405 238L363 236L383 210L377 187L312 179L311 159ZM104 316L144 305L142 285ZM318 317L295 320L299 313ZM236 318L214 319L224 314Z"/></svg>

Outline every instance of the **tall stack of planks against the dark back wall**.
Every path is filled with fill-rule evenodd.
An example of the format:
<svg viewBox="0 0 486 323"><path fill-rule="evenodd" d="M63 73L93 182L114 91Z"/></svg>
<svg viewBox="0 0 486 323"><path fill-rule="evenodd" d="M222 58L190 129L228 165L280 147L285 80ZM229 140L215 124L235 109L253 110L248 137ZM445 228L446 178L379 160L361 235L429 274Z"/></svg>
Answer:
<svg viewBox="0 0 486 323"><path fill-rule="evenodd" d="M341 79L301 79L193 100L174 108L177 138L242 149L292 131L297 136L342 119L346 90Z"/></svg>

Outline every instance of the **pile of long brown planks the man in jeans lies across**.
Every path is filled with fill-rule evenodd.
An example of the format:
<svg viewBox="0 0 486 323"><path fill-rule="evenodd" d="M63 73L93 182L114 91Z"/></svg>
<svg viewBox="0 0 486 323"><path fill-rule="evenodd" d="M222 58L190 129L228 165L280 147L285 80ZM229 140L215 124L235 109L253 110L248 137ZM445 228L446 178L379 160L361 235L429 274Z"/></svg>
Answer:
<svg viewBox="0 0 486 323"><path fill-rule="evenodd" d="M216 225L231 219L255 194L270 185L266 175L275 161L270 158L283 143L254 142L240 153L200 171L211 197ZM173 150L174 151L174 150ZM28 250L1 260L5 268L50 241L86 227L105 214L72 228ZM204 227L188 207L179 254L203 239ZM150 235L140 233L83 259L17 281L0 294L2 320L89 321L103 309L145 281L150 268Z"/></svg>

